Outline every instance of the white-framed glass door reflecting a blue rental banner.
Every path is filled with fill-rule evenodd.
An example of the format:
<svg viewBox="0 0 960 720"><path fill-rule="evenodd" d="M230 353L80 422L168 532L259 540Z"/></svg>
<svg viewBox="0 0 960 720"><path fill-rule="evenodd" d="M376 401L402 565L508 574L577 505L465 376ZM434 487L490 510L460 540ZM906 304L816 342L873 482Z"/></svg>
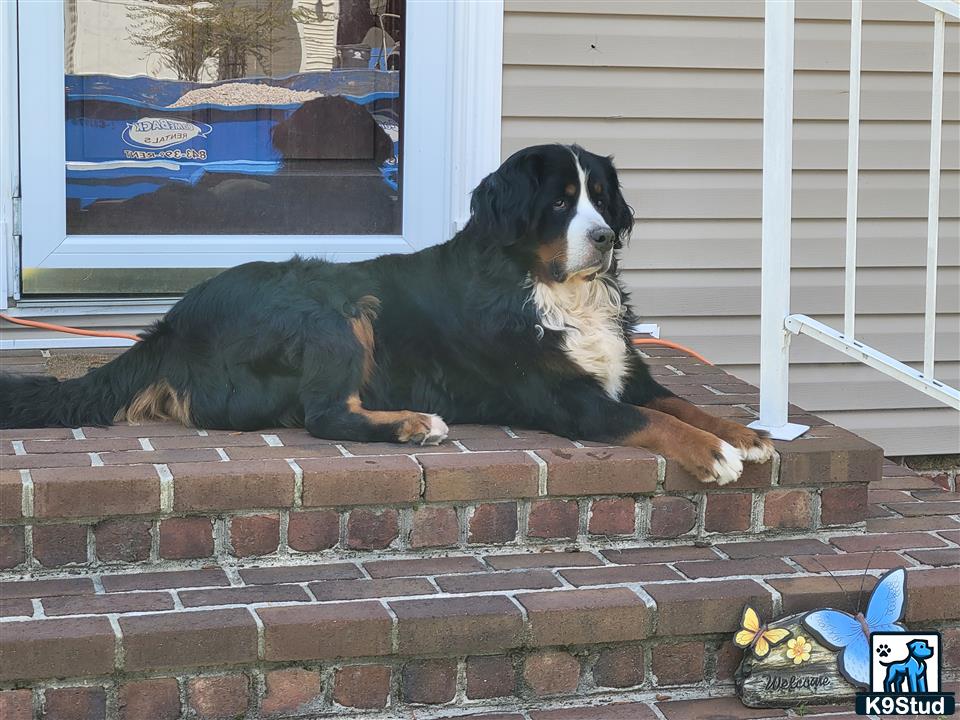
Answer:
<svg viewBox="0 0 960 720"><path fill-rule="evenodd" d="M24 294L445 240L447 5L20 0Z"/></svg>

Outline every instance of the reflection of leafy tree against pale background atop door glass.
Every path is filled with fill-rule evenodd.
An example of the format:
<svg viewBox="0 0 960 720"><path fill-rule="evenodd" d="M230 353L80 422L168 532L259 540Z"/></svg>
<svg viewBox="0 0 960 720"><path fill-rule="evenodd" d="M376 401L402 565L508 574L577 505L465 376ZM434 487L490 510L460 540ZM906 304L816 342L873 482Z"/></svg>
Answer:
<svg viewBox="0 0 960 720"><path fill-rule="evenodd" d="M269 68L277 30L291 16L290 0L158 0L128 12L134 43L159 55L181 80L197 82L217 61L220 80L246 75L251 58Z"/></svg>

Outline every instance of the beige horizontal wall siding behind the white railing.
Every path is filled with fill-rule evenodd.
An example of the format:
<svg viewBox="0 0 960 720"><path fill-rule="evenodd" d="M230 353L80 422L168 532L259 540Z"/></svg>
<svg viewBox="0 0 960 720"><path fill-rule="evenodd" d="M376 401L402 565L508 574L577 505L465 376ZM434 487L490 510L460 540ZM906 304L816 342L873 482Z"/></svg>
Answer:
<svg viewBox="0 0 960 720"><path fill-rule="evenodd" d="M637 226L627 282L664 336L756 381L762 0L507 0L503 154L539 142L613 153ZM932 11L864 3L858 329L917 365ZM797 3L792 304L843 312L849 2ZM946 33L938 375L960 382L960 25ZM807 338L792 398L891 454L956 452L960 418Z"/></svg>

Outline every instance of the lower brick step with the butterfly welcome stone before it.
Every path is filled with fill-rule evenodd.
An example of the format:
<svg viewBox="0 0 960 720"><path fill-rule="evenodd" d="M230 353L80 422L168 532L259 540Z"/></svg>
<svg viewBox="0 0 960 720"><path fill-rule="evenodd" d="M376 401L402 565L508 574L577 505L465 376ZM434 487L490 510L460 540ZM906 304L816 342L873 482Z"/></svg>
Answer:
<svg viewBox="0 0 960 720"><path fill-rule="evenodd" d="M822 540L7 573L0 708L29 690L37 718L70 707L81 720L496 708L543 720L531 708L625 692L649 710L657 694L730 692L744 603L764 618L847 607L868 564L868 589L908 567L906 621L943 633L956 677L960 501L922 478L872 492L884 517Z"/></svg>

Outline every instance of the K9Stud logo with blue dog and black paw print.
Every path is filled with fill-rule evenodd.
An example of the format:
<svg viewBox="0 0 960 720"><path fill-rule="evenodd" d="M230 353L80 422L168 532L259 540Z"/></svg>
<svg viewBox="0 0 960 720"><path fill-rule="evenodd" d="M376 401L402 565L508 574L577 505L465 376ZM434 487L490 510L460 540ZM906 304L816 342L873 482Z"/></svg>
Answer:
<svg viewBox="0 0 960 720"><path fill-rule="evenodd" d="M940 633L871 633L870 692L857 693L857 714L953 715L940 665Z"/></svg>

